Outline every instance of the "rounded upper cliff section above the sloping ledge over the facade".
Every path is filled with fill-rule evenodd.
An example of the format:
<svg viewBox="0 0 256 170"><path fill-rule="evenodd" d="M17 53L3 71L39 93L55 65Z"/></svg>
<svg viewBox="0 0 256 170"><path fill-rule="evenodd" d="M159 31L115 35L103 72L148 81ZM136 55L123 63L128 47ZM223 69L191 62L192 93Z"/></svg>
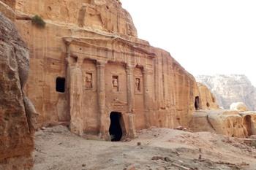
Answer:
<svg viewBox="0 0 256 170"><path fill-rule="evenodd" d="M19 0L16 8L27 15L37 14L64 25L137 36L131 16L116 0Z"/></svg>

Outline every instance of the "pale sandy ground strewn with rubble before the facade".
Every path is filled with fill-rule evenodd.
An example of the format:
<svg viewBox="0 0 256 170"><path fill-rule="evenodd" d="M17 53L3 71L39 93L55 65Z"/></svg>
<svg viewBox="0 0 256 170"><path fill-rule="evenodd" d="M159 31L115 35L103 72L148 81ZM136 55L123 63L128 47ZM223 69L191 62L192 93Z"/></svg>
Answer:
<svg viewBox="0 0 256 170"><path fill-rule="evenodd" d="M243 139L167 128L140 131L130 142L102 142L56 126L37 131L35 150L34 170L256 170L256 150Z"/></svg>

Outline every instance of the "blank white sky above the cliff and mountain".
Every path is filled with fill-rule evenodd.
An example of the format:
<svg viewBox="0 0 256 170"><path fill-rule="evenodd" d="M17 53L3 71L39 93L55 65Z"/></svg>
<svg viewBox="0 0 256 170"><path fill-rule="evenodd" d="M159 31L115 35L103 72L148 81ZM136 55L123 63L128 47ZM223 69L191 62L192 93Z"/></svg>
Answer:
<svg viewBox="0 0 256 170"><path fill-rule="evenodd" d="M256 85L256 1L122 0L141 39L192 74L246 74Z"/></svg>

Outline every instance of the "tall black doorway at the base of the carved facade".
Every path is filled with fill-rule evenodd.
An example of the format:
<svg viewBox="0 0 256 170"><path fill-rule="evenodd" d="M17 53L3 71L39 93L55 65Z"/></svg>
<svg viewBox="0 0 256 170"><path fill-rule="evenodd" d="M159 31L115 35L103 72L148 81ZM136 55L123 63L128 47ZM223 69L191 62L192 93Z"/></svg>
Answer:
<svg viewBox="0 0 256 170"><path fill-rule="evenodd" d="M109 134L111 141L120 141L123 136L121 128L121 113L120 112L111 112L110 113L110 128Z"/></svg>

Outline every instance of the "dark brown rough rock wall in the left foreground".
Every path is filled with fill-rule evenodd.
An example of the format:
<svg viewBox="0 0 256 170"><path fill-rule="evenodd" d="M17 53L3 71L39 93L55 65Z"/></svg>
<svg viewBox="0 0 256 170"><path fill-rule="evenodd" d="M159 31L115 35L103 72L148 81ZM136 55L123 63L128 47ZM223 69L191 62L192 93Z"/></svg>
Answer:
<svg viewBox="0 0 256 170"><path fill-rule="evenodd" d="M33 105L23 93L29 73L29 50L14 24L0 12L0 169L33 166Z"/></svg>

